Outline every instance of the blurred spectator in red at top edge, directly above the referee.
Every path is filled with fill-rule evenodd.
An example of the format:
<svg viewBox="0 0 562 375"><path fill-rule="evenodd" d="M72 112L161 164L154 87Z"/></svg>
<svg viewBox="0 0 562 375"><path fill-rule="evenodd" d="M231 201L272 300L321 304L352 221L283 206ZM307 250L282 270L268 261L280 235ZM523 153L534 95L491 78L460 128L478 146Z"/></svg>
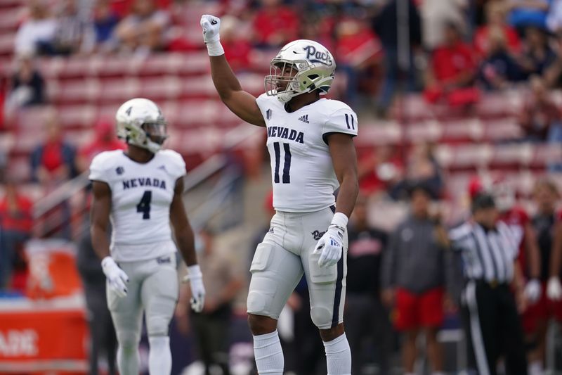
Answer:
<svg viewBox="0 0 562 375"><path fill-rule="evenodd" d="M488 51L490 28L500 27L504 30L507 39L507 48L511 53L521 51L521 41L517 30L507 24L507 6L503 1L489 1L485 5L486 24L478 27L474 34L474 49L479 56L484 56Z"/></svg>

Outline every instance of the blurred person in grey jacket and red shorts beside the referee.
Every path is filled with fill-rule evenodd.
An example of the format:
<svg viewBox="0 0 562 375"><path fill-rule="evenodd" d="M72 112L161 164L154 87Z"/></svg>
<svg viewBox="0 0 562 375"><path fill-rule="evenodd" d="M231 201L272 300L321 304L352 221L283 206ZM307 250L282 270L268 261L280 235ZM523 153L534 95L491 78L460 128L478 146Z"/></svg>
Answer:
<svg viewBox="0 0 562 375"><path fill-rule="evenodd" d="M393 308L396 329L403 333L403 368L414 374L417 336L426 336L426 352L433 374L443 372L443 350L437 332L443 324L445 304L445 245L440 224L429 212L431 194L414 186L410 215L391 235L381 272L382 299Z"/></svg>

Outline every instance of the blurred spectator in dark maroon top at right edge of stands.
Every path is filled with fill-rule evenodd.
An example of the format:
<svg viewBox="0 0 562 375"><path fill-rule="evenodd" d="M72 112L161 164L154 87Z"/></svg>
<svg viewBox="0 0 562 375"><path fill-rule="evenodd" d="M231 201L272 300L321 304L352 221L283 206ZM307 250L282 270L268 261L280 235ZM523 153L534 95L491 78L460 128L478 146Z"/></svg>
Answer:
<svg viewBox="0 0 562 375"><path fill-rule="evenodd" d="M561 112L549 97L544 81L541 77L533 76L530 79L530 88L530 96L519 113L519 124L525 131L526 139L561 142Z"/></svg>

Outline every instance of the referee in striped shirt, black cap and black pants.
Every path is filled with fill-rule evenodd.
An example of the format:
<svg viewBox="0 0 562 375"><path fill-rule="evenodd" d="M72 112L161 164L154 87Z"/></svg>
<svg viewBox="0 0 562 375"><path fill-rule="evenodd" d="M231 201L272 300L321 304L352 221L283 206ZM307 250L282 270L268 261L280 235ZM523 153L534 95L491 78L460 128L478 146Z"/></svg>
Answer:
<svg viewBox="0 0 562 375"><path fill-rule="evenodd" d="M472 201L472 218L449 233L452 250L462 256L466 286L461 305L469 349L470 374L495 375L504 358L507 375L527 375L523 329L523 283L516 264L518 244L498 222L494 198ZM514 296L513 290L516 291Z"/></svg>

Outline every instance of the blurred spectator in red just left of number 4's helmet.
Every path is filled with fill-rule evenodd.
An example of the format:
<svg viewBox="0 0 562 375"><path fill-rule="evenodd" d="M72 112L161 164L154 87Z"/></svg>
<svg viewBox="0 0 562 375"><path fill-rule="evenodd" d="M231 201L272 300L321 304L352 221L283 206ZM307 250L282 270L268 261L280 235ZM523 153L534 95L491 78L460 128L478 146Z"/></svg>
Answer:
<svg viewBox="0 0 562 375"><path fill-rule="evenodd" d="M96 135L93 141L78 151L77 167L80 172L86 170L93 157L103 151L124 149L125 144L115 136L115 128L111 122L100 120L96 124Z"/></svg>

